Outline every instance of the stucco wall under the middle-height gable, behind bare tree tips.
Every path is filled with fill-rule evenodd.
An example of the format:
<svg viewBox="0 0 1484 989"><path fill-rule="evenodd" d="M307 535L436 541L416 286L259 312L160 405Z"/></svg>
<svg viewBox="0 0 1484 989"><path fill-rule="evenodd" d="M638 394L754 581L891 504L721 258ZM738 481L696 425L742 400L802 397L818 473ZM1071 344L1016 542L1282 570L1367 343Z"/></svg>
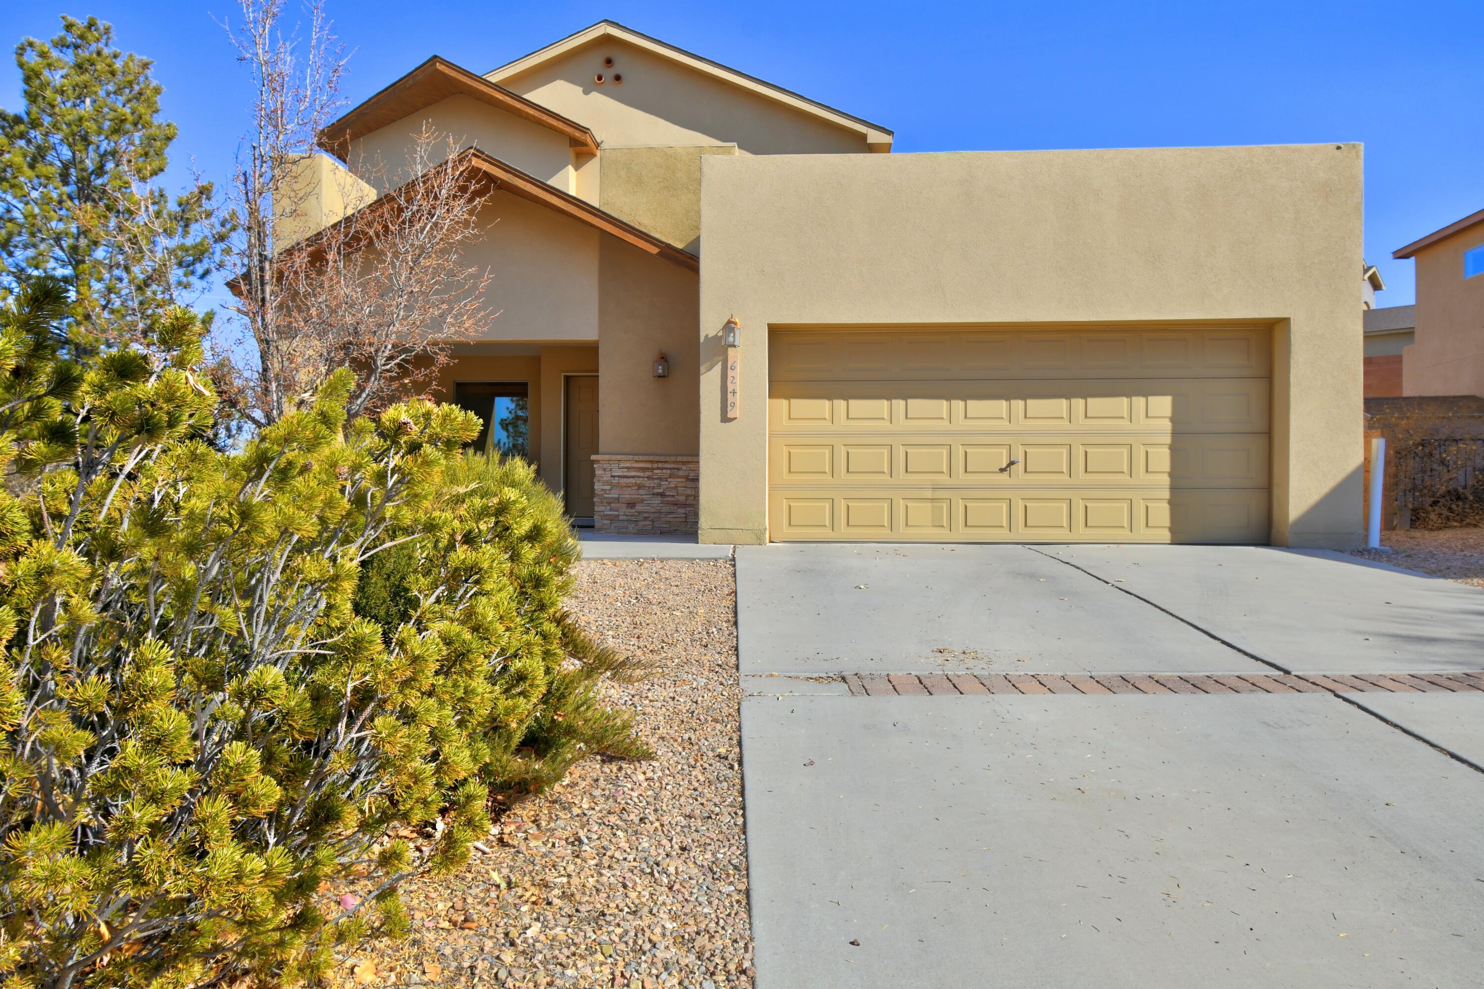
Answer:
<svg viewBox="0 0 1484 989"><path fill-rule="evenodd" d="M463 95L439 99L421 113L353 141L346 160L358 172L367 171L378 188L389 182L398 185L407 178L408 148L423 122L456 141L460 150L476 147L562 191L576 191L571 148L564 135ZM435 160L447 157L444 150L439 147Z"/></svg>

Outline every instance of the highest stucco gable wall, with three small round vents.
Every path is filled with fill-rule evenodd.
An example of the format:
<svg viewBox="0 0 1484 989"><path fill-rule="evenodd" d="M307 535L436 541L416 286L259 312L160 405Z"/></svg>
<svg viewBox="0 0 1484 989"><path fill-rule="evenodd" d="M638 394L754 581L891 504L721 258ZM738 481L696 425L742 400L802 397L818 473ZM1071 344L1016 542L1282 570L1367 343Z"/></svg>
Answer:
<svg viewBox="0 0 1484 989"><path fill-rule="evenodd" d="M611 56L611 68L603 59ZM604 73L610 82L597 85ZM614 85L611 76L623 76ZM603 37L502 86L586 125L604 145L726 144L743 154L865 151L865 136L668 58Z"/></svg>

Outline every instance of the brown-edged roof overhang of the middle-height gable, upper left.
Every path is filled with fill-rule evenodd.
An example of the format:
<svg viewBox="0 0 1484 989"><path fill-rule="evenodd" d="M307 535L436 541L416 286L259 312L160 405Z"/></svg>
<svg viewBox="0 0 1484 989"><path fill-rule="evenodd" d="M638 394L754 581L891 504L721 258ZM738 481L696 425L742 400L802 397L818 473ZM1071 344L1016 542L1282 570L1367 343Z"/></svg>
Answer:
<svg viewBox="0 0 1484 989"><path fill-rule="evenodd" d="M592 130L576 120L552 113L546 107L438 55L321 130L319 147L344 162L350 153L352 141L389 123L396 123L418 110L426 110L439 99L460 95L472 96L496 110L555 130L564 135L571 147L586 154L598 153L598 139L592 136Z"/></svg>

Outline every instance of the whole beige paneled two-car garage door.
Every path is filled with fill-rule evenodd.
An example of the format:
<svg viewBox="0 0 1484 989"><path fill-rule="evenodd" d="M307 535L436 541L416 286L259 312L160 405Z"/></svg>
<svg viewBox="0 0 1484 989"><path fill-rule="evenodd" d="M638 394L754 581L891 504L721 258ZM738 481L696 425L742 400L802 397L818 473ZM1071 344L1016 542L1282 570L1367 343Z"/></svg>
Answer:
<svg viewBox="0 0 1484 989"><path fill-rule="evenodd" d="M1266 543L1267 329L769 337L773 540Z"/></svg>

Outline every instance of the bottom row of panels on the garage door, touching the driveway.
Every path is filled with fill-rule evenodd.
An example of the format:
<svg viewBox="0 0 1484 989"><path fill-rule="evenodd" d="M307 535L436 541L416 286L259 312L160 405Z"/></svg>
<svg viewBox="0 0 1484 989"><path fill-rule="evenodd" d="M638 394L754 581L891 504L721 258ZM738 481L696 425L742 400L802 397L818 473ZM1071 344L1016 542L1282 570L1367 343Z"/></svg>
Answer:
<svg viewBox="0 0 1484 989"><path fill-rule="evenodd" d="M939 538L1021 541L1263 543L1267 492L1036 489L987 495L935 488L778 489L775 540Z"/></svg>

